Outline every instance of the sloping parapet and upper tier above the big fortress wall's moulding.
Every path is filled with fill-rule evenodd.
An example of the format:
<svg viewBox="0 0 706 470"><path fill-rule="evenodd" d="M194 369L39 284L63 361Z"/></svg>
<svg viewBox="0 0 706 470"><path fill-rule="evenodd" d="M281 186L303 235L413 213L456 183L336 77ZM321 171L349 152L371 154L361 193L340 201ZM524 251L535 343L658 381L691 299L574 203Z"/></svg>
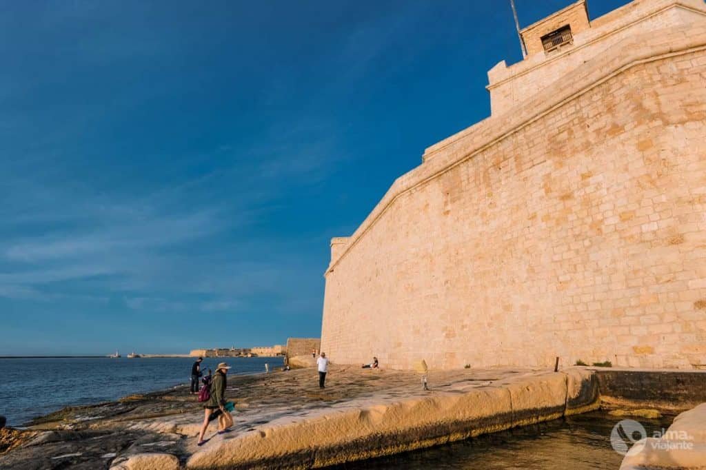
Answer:
<svg viewBox="0 0 706 470"><path fill-rule="evenodd" d="M423 164L398 177L351 236L332 240L332 257L325 275L333 272L340 260L352 251L394 200L421 182L438 176L534 119L539 119L554 107L572 100L576 93L590 89L617 73L623 66L680 47L700 44L700 39L695 37L693 31L700 31L705 15L706 4L703 0L635 0L593 20L590 29L574 38L573 47L549 57L545 57L544 53L534 54L509 68L505 67L504 62L498 64L489 72L489 75L494 73L491 77L493 85L489 88L501 87L505 83L508 86L527 83L525 76L532 78L532 74L546 76L556 73L558 81L553 84L534 83L534 92L527 93L522 100L508 102L508 110L511 112L493 113L473 126L427 147L422 155ZM666 32L678 34L669 35L669 40L660 42ZM561 76L563 70L573 73L570 80ZM504 83L501 80L505 80ZM492 93L493 90L491 96Z"/></svg>

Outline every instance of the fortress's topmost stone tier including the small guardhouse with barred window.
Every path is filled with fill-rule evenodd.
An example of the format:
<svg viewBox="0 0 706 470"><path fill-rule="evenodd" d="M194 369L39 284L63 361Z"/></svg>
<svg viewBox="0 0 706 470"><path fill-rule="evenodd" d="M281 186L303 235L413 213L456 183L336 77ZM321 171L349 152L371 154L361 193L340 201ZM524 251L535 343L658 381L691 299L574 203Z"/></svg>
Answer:
<svg viewBox="0 0 706 470"><path fill-rule="evenodd" d="M702 10L703 6L703 0L634 0L590 21L587 4L580 0L539 20L520 32L527 57L511 66L501 61L488 71L491 115L505 114L537 92L571 80L578 66L635 31L683 25L679 8ZM660 14L666 10L670 10L666 15Z"/></svg>

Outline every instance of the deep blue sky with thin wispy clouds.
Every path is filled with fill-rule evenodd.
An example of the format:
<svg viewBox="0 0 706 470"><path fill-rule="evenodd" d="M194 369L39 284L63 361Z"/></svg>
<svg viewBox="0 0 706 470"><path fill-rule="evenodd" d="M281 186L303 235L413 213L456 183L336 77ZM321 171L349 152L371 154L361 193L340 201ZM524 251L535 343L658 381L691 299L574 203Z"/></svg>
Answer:
<svg viewBox="0 0 706 470"><path fill-rule="evenodd" d="M501 0L0 4L0 355L318 336L329 239L502 59Z"/></svg>

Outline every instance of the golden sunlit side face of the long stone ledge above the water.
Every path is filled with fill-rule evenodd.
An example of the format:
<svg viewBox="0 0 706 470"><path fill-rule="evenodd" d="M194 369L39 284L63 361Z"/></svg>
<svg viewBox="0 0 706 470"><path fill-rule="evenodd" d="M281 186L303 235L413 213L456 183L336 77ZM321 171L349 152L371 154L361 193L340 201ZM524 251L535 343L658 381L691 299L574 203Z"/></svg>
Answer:
<svg viewBox="0 0 706 470"><path fill-rule="evenodd" d="M407 399L378 398L286 416L209 443L189 458L187 468L321 468L548 421L566 409L567 382L564 373L503 375L420 390Z"/></svg>

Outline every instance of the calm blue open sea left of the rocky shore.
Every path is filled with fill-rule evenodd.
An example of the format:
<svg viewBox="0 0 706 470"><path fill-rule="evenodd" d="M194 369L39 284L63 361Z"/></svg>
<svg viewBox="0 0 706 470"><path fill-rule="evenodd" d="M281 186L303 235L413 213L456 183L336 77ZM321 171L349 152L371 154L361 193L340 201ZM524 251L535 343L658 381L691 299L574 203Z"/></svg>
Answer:
<svg viewBox="0 0 706 470"><path fill-rule="evenodd" d="M215 368L224 358L205 358ZM282 366L277 358L225 358L231 373L251 374ZM9 426L64 406L108 402L132 393L189 383L193 358L19 358L0 359L0 415Z"/></svg>

